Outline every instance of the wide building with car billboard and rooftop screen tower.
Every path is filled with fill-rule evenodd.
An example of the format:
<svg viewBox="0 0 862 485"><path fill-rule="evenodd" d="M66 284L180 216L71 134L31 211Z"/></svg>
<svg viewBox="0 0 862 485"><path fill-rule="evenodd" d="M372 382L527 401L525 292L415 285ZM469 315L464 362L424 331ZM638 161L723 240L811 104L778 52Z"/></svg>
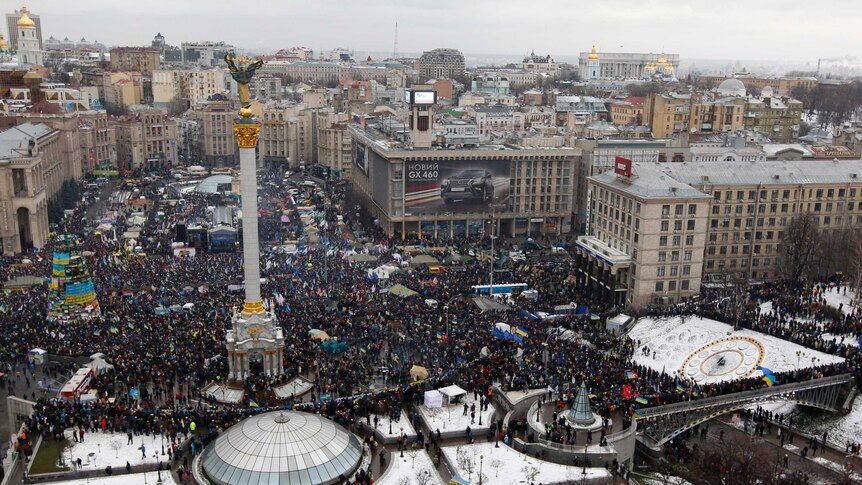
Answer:
<svg viewBox="0 0 862 485"><path fill-rule="evenodd" d="M456 147L431 119L433 107L414 102L407 120L366 118L349 128L353 186L387 234L570 231L579 149Z"/></svg>

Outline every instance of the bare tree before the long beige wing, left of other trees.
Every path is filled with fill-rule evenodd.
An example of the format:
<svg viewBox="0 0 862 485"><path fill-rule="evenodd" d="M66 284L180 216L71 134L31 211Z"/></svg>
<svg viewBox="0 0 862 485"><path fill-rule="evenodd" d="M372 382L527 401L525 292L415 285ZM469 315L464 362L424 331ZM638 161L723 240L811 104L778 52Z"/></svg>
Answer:
<svg viewBox="0 0 862 485"><path fill-rule="evenodd" d="M810 213L795 216L781 238L779 255L784 277L794 285L804 286L817 261L820 234Z"/></svg>

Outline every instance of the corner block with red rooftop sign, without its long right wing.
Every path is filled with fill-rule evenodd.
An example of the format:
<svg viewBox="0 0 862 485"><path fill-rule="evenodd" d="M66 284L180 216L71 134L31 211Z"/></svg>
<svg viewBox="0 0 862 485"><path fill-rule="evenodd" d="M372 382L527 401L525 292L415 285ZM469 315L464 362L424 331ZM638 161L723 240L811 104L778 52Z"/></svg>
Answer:
<svg viewBox="0 0 862 485"><path fill-rule="evenodd" d="M708 195L652 167L589 178L587 235L577 278L608 303L639 307L686 301L700 291Z"/></svg>

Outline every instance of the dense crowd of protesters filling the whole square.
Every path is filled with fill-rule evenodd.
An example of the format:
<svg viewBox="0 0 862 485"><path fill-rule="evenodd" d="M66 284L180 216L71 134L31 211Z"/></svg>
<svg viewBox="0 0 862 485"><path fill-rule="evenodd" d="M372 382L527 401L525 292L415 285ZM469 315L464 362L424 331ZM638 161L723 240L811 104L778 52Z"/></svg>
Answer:
<svg viewBox="0 0 862 485"><path fill-rule="evenodd" d="M566 404L574 400L576 386L584 382L595 396L591 401L594 409L604 416L631 416L643 406L634 401L635 396L643 396L646 405L652 406L765 385L751 378L703 385L695 396L680 393L674 376L634 363L632 356L642 342L606 331L602 321L591 319L589 313L567 316L549 326L522 318L517 308L480 312L470 298L471 287L483 283L481 275L487 274L488 263L465 256L480 254L489 247L489 239L481 234L438 239L386 236L368 213L354 210L344 186L301 194L317 210L319 242L284 254L277 249L280 242L302 239L306 229L289 212L298 202L296 197L291 201L280 173L263 173L260 180L261 240L264 247L272 247L261 255L262 293L284 328L285 376L256 374L244 383L245 399L240 406L217 405L213 396L201 393L207 383L222 382L227 375L223 341L233 309L242 305L242 291L235 291L242 284L241 251L199 251L195 257L175 257L171 242L176 224L205 217L207 207L223 200L187 194L184 203L167 203L160 197L164 187L143 185L136 194L158 202L132 247L112 234L94 231L86 207L55 228L58 233L78 234L82 249L90 255L87 265L98 292L99 317L73 323L47 319L44 287L4 294L0 359L7 370L25 368L27 352L34 347L58 355L102 352L114 366L93 380L91 388L100 398L94 402L54 399L31 391L26 397L37 402L27 421L31 432L47 438L59 437L69 428L161 434L171 443L174 459L187 469L188 456L199 453L212 433L262 409L293 405L323 413L348 427L371 414L398 413L404 405L419 402L425 388L424 383L411 385L413 365L429 369L433 384L457 383L482 395L495 383L503 390L547 387L557 402ZM129 227L130 214L130 209L115 208L111 223L117 234ZM285 214L290 214L287 221L282 218ZM339 215L344 224L339 224ZM498 247L504 250L514 249L512 241L501 243ZM410 271L403 268L389 281L369 277L368 270L374 266L409 263L405 247L410 245L422 246L440 260L459 254L460 261L447 266L448 271L431 272L427 266L419 266ZM49 244L23 257L4 258L0 280L50 274L52 250ZM357 252L372 254L377 261L373 265L354 263L349 256ZM23 262L25 258L29 262ZM592 301L570 278L574 271L571 260L509 260L497 269L495 278L525 282L538 290L535 301L518 302L523 309L577 302L599 316L612 315L616 309ZM396 283L418 295L401 298L381 292ZM856 348L812 333L816 327L858 335L857 313L826 320L816 292L787 297L779 286L759 291L763 294L753 295L751 300L769 298L773 310L746 307L740 318L742 326L848 357L846 363L819 367L821 375L858 368ZM439 306L428 305L426 300L435 300ZM179 312L156 312L157 308L188 303L193 305ZM728 321L728 309L718 298L643 313L667 316L680 312ZM523 342L491 338L490 329L497 322L520 327L526 334ZM575 338L557 338L558 327L573 331ZM310 329L326 332L347 349L337 355L327 353L311 339ZM632 374L637 378L632 379ZM386 389L372 392L371 384L383 375ZM781 382L792 382L810 378L811 371L775 375ZM272 386L298 376L314 383L305 399L283 400L272 392ZM140 397L129 395L132 388L140 390ZM252 402L255 406L249 407ZM199 431L190 430L192 423ZM554 436L566 439L565 433Z"/></svg>

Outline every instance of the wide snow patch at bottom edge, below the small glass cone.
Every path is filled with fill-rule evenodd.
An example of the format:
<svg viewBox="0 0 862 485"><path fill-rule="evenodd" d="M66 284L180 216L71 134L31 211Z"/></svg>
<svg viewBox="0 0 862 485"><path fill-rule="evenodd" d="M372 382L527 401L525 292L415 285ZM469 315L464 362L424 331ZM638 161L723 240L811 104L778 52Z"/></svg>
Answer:
<svg viewBox="0 0 862 485"><path fill-rule="evenodd" d="M459 458L459 450L461 458ZM482 483L495 485L520 485L523 483L576 483L583 478L583 468L558 465L547 461L526 457L523 453L500 445L494 448L494 443L476 443L464 446L447 446L443 453L452 463L456 472L470 483L479 483L479 468L481 461ZM480 457L484 457L480 460ZM469 469L466 469L469 468ZM535 471L536 476L527 480L528 473ZM611 474L604 468L587 468L587 477L591 480L605 478L610 481ZM472 472L472 473L471 473Z"/></svg>

